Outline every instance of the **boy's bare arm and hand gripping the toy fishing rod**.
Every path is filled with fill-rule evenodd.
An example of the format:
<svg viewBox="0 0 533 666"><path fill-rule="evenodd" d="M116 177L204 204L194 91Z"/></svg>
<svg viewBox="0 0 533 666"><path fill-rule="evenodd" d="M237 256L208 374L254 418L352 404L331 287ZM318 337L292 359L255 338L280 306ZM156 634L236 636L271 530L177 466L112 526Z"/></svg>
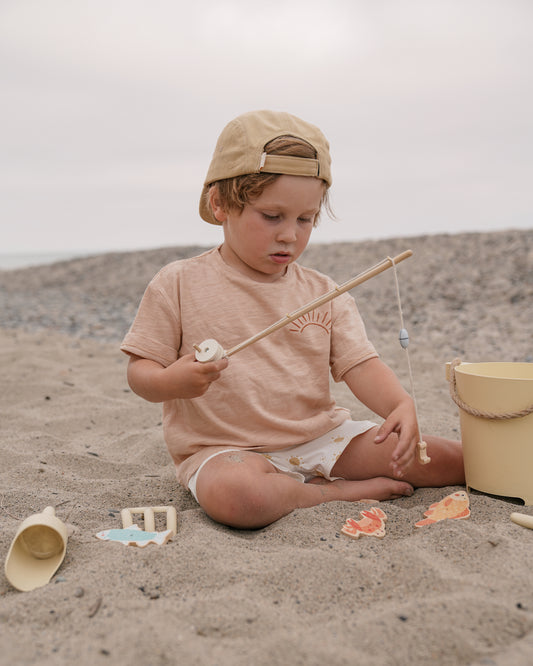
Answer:
<svg viewBox="0 0 533 666"><path fill-rule="evenodd" d="M199 363L193 354L182 356L168 367L156 361L131 355L128 363L128 384L132 391L150 402L177 398L197 398L228 365L228 359Z"/></svg>

